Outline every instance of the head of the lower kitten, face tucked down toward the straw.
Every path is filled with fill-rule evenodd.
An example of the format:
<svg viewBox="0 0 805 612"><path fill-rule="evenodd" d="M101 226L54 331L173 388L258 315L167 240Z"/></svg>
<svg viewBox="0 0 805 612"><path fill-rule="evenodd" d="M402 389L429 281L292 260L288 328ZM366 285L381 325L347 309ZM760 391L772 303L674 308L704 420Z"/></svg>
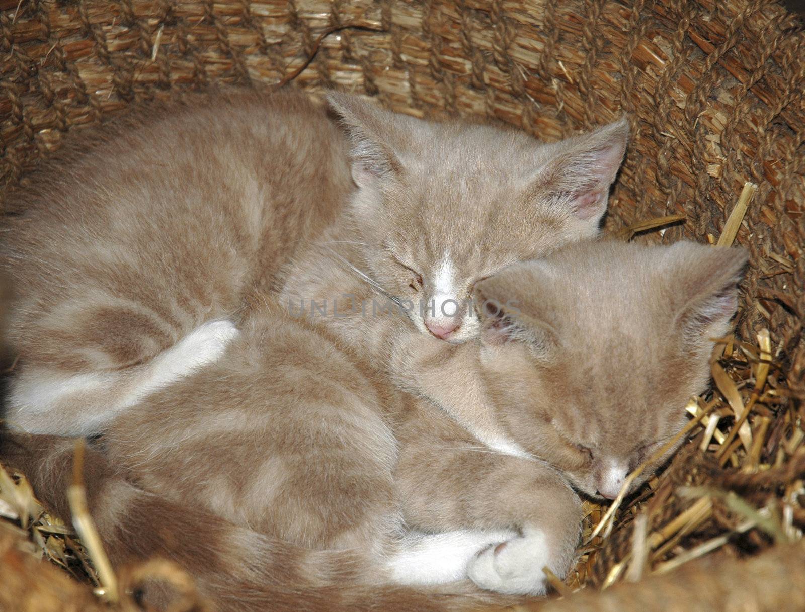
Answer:
<svg viewBox="0 0 805 612"><path fill-rule="evenodd" d="M478 283L481 363L510 436L587 495L617 496L707 387L746 258L690 242L589 242Z"/></svg>

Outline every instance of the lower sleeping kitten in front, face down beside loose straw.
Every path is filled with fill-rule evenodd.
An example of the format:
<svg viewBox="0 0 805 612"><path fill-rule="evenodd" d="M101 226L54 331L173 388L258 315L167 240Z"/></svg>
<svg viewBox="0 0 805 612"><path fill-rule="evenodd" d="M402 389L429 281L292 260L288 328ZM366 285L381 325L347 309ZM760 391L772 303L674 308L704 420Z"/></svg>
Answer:
<svg viewBox="0 0 805 612"><path fill-rule="evenodd" d="M481 408L517 454L378 380L327 327L261 306L217 363L110 425L90 464L93 516L116 562L174 557L221 610L464 610L478 601L421 598L463 578L542 594L543 566L564 577L579 537L568 480L612 496L624 470L679 432L745 261L690 243L597 242L477 282L481 337L453 356L481 380ZM440 371L420 357L419 375ZM460 384L450 394L474 408ZM69 447L19 444L2 456L64 512ZM188 520L194 548L126 536L182 533Z"/></svg>

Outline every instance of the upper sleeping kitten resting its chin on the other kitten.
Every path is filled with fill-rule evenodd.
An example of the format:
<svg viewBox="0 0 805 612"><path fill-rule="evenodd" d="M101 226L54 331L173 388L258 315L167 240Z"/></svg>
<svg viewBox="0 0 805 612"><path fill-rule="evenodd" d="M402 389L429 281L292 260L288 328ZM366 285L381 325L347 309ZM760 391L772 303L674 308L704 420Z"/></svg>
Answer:
<svg viewBox="0 0 805 612"><path fill-rule="evenodd" d="M18 291L8 421L102 431L218 359L247 298L283 276L285 295L308 301L356 282L361 299L423 299L407 310L422 334L471 339L475 281L597 234L628 131L621 120L543 145L330 104L344 130L290 92L147 108L36 175L0 257ZM380 319L338 323L387 353Z"/></svg>

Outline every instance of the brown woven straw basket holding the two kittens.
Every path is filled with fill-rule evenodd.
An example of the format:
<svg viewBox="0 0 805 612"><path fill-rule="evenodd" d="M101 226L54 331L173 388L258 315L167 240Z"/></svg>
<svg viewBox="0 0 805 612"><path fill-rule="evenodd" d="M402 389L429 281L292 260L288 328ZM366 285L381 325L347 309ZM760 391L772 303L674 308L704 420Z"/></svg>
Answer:
<svg viewBox="0 0 805 612"><path fill-rule="evenodd" d="M0 0L0 10L4 195L71 129L208 84L341 86L399 112L485 115L546 140L628 113L608 228L683 214L642 239L713 241L743 184L757 183L737 234L752 254L739 328L747 339L768 328L789 387L805 391L805 33L777 2ZM766 553L757 574L708 561L710 586L696 592L741 576L757 587L743 602L752 610L802 610L771 585L794 573L805 588L802 563L779 575L803 554ZM584 610L676 609L646 595L673 582L651 584L621 585L600 604L588 596Z"/></svg>

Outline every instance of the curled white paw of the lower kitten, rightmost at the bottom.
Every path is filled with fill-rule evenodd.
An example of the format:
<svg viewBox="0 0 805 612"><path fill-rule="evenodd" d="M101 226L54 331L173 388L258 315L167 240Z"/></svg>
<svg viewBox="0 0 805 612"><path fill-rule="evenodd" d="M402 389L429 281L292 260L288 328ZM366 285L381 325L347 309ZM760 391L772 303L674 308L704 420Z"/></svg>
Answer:
<svg viewBox="0 0 805 612"><path fill-rule="evenodd" d="M481 589L509 595L545 593L543 567L550 550L540 529L526 530L523 536L497 546L489 546L469 562L469 579Z"/></svg>

